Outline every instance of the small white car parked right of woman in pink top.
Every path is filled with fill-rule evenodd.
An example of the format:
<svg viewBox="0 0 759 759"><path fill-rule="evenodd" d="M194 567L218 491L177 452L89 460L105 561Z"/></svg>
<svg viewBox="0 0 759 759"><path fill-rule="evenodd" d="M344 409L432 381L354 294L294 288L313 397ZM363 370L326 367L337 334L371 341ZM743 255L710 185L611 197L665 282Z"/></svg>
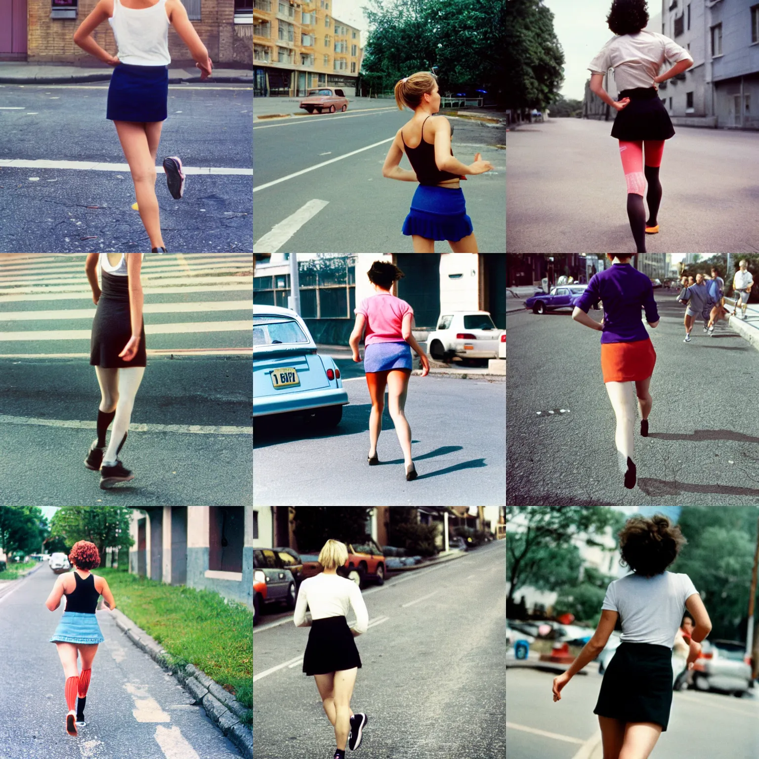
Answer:
<svg viewBox="0 0 759 759"><path fill-rule="evenodd" d="M427 351L435 361L446 363L454 356L498 358L502 334L505 330L493 324L487 311L449 311L440 314L437 328L427 335Z"/></svg>

